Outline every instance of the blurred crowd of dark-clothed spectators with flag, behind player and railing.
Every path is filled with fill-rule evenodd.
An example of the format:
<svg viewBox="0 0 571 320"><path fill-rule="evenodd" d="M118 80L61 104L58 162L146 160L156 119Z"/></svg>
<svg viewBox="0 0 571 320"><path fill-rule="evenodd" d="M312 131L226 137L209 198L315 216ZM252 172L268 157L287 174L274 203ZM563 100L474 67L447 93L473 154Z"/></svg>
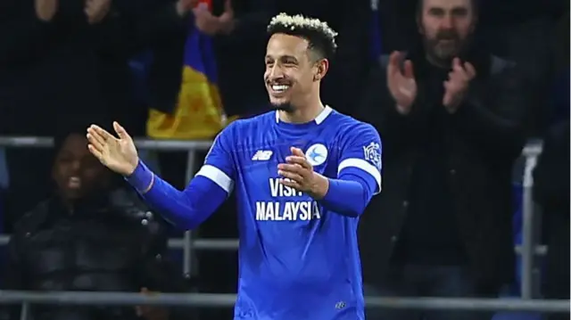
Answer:
<svg viewBox="0 0 571 320"><path fill-rule="evenodd" d="M0 233L12 234L2 288L236 291L234 252L199 252L199 276L183 275L167 246L181 231L87 152L85 130L117 120L138 137L210 140L230 121L267 111L266 26L279 12L338 32L323 101L383 140L383 192L360 223L367 294L517 295L506 293L518 283L521 188L512 172L526 141L539 138L534 201L549 246L541 295L569 298L567 0L0 1L0 136L54 137L50 149L0 145ZM186 152L142 157L186 185ZM201 236L236 238L233 206ZM19 306L2 307L0 319L19 318ZM37 320L229 318L185 308L32 312ZM371 320L492 316L368 312Z"/></svg>

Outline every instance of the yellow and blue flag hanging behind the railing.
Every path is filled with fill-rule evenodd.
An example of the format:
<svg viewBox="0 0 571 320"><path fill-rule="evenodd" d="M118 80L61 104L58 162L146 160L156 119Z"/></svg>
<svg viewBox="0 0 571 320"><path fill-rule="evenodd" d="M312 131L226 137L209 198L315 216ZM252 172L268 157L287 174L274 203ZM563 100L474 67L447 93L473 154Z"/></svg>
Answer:
<svg viewBox="0 0 571 320"><path fill-rule="evenodd" d="M198 5L211 10L211 0L200 0ZM151 109L146 124L150 137L211 139L226 125L212 38L190 22L177 106L172 113Z"/></svg>

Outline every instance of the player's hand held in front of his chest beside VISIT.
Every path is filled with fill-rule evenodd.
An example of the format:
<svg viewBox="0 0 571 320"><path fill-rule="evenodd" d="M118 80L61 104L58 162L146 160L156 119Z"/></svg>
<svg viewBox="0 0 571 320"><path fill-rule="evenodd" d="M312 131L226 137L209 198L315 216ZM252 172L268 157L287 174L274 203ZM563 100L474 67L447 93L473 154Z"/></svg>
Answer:
<svg viewBox="0 0 571 320"><path fill-rule="evenodd" d="M292 147L292 155L285 158L287 163L277 165L277 174L282 185L287 185L302 193L308 193L313 199L322 199L329 187L327 177L313 171L313 166L305 158L302 150Z"/></svg>

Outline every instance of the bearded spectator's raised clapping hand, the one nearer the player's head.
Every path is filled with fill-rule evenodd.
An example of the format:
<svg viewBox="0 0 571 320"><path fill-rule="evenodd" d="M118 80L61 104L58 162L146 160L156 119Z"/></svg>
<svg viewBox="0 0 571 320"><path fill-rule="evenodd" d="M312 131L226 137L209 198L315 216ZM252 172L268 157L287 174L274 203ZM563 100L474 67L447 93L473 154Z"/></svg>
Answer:
<svg viewBox="0 0 571 320"><path fill-rule="evenodd" d="M412 103L417 98L417 81L414 78L410 60L404 62L401 70L402 59L404 59L403 53L398 51L391 53L386 68L386 83L397 104L397 111L401 114L408 114Z"/></svg>

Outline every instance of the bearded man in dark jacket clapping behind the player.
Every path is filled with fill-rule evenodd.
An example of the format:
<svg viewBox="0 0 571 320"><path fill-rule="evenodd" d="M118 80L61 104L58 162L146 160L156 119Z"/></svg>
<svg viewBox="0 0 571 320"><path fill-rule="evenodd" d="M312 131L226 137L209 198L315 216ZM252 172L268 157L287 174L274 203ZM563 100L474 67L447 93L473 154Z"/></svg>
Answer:
<svg viewBox="0 0 571 320"><path fill-rule="evenodd" d="M514 65L471 45L476 20L476 1L421 1L423 45L372 71L360 113L383 139L384 184L360 223L371 294L493 296L512 276L510 175L525 105ZM372 320L480 316L369 311Z"/></svg>

